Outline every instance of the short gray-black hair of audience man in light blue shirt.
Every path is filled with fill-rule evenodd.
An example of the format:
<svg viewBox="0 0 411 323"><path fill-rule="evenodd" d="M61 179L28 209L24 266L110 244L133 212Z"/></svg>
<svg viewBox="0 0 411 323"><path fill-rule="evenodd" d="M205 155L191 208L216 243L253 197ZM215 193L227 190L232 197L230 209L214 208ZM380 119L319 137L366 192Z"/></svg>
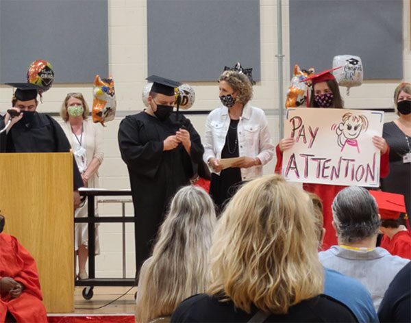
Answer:
<svg viewBox="0 0 411 323"><path fill-rule="evenodd" d="M332 216L340 243L360 242L377 235L381 222L375 199L358 186L349 186L337 194Z"/></svg>

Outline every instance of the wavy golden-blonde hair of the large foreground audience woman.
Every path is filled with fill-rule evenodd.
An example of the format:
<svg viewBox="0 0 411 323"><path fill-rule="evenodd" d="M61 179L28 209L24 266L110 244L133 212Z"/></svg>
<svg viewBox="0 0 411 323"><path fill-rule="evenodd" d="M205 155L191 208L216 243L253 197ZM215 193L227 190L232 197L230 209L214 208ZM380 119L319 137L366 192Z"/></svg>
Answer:
<svg viewBox="0 0 411 323"><path fill-rule="evenodd" d="M314 217L307 195L279 175L245 184L217 225L208 293L247 313L271 313L323 292Z"/></svg>

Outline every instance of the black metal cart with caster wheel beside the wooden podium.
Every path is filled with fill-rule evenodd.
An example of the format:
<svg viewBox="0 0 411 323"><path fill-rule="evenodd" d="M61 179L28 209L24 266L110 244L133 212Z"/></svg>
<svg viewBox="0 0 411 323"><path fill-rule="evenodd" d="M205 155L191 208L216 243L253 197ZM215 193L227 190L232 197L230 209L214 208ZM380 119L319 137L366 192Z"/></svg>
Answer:
<svg viewBox="0 0 411 323"><path fill-rule="evenodd" d="M86 218L75 218L75 223L88 223L88 237L95 237L95 223L122 223L123 234L123 278L95 278L95 239L88 239L88 279L75 280L75 286L84 286L82 295L84 299L90 300L93 296L95 286L134 286L136 280L127 279L125 276L125 223L134 222L134 216L125 216L125 203L131 203L131 198L101 199L101 203L120 203L122 216L95 216L95 198L97 196L132 196L131 190L103 190L103 189L80 189L80 196L88 199L88 216Z"/></svg>

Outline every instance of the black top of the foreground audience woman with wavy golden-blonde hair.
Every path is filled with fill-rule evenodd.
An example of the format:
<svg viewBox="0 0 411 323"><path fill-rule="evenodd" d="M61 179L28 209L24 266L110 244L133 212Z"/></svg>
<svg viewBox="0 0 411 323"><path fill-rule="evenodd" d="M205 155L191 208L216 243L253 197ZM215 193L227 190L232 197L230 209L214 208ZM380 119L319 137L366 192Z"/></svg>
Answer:
<svg viewBox="0 0 411 323"><path fill-rule="evenodd" d="M236 309L206 294L191 296L171 316L171 322L248 322L257 313ZM351 310L332 297L321 295L290 307L287 314L270 315L264 322L358 322Z"/></svg>

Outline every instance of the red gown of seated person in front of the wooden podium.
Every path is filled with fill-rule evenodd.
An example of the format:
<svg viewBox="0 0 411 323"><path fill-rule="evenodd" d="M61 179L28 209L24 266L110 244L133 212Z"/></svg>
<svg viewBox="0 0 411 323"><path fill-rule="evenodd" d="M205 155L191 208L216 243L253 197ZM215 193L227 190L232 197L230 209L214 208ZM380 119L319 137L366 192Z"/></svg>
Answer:
<svg viewBox="0 0 411 323"><path fill-rule="evenodd" d="M0 322L4 322L9 311L17 322L47 323L36 261L15 237L5 233L0 234L0 279L3 277L11 277L24 289L17 298L0 299Z"/></svg>

